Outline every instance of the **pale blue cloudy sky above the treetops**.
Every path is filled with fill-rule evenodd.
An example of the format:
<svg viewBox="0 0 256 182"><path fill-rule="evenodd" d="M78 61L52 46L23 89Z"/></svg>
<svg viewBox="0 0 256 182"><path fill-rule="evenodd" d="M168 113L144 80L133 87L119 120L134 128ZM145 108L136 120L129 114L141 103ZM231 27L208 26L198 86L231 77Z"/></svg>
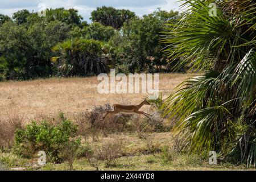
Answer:
<svg viewBox="0 0 256 182"><path fill-rule="evenodd" d="M12 16L14 12L22 9L38 12L40 8L64 7L79 10L84 20L90 22L90 13L98 6L113 6L117 9L129 9L142 16L155 11L158 7L162 10L179 10L179 0L0 0L0 14ZM42 4L43 3L43 4ZM43 5L43 6L40 6Z"/></svg>

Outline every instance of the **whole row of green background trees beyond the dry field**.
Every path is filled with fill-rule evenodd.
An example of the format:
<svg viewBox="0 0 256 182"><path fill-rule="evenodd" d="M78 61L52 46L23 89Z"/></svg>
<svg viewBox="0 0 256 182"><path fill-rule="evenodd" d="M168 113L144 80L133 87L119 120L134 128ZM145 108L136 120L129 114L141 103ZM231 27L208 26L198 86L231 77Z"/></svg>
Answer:
<svg viewBox="0 0 256 182"><path fill-rule="evenodd" d="M138 17L129 10L98 7L92 23L75 9L48 9L46 16L20 10L0 14L0 80L91 76L108 72L170 72L159 44L175 11ZM181 69L182 70L182 69Z"/></svg>

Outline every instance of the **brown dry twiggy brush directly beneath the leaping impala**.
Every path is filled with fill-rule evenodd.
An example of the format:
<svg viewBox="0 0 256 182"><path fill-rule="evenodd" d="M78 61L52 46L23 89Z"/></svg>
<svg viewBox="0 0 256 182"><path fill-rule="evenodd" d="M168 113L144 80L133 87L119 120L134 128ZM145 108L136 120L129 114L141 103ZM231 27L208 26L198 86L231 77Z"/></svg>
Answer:
<svg viewBox="0 0 256 182"><path fill-rule="evenodd" d="M94 106L91 111L86 110L74 116L76 124L79 125L78 134L85 137L89 135L93 141L98 142L100 137L108 137L109 134L120 132L163 132L170 128L163 123L157 112L152 118L145 118L138 114L109 114L104 120L102 117L106 111L113 110L110 104Z"/></svg>

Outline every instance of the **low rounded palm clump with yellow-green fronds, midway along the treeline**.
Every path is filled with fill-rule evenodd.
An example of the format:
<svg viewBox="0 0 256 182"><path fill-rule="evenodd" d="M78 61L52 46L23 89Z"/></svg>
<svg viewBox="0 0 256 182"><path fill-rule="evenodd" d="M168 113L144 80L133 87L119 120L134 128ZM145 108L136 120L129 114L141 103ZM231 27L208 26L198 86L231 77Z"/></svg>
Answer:
<svg viewBox="0 0 256 182"><path fill-rule="evenodd" d="M107 72L102 43L97 40L76 38L57 44L52 48L60 76L90 76Z"/></svg>

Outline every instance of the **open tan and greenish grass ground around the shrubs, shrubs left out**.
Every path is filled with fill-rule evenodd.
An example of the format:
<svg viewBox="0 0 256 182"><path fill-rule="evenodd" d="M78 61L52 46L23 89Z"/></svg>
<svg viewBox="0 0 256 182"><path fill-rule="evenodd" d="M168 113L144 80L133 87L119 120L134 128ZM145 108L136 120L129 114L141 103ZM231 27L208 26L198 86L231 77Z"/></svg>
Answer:
<svg viewBox="0 0 256 182"><path fill-rule="evenodd" d="M184 79L192 75L160 74L159 89L166 97ZM97 92L97 77L90 78L50 78L34 81L9 81L0 83L0 114L3 119L13 117L22 119L24 125L31 119L52 119L61 111L66 117L79 120L79 113L92 110L94 106L109 104L138 104L143 94L106 94ZM154 112L149 106L142 110ZM110 118L111 119L111 118ZM111 120L110 120L111 121ZM146 121L143 116L135 116L133 121ZM1 119L0 119L1 122ZM79 127L85 127L80 123ZM133 123L131 123L133 125ZM90 145L98 150L111 141L121 142L121 151L106 166L102 160L94 161L101 170L243 170L245 166L218 163L210 166L208 158L189 155L179 150L179 143L171 133L171 123L163 119L164 130L117 130L108 134L88 133L82 135L82 145ZM109 126L106 126L109 127ZM87 131L87 130L86 130ZM108 152L113 152L110 148ZM115 152L115 151L114 151ZM18 170L68 170L68 162L61 164L47 163L44 167L35 167L36 156L21 159L10 151L0 153L0 162L9 169ZM84 157L75 160L75 170L94 170L95 165Z"/></svg>

